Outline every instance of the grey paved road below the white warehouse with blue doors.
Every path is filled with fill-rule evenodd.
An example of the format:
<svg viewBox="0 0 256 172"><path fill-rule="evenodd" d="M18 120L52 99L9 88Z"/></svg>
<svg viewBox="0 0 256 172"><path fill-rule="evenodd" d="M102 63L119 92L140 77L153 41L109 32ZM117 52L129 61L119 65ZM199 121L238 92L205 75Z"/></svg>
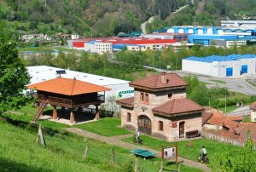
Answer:
<svg viewBox="0 0 256 172"><path fill-rule="evenodd" d="M168 70L163 70L159 68L154 68L151 66L144 66L146 68L153 68L154 70L158 72L171 72ZM173 71L172 71L173 72ZM196 73L189 73L189 72L183 72L183 71L176 71L177 74L180 76L186 76L186 75L191 75L191 76L196 76L201 82L207 83L207 88L212 88L212 87L221 87L221 88L226 88L229 89L230 91L236 91L239 93L242 93L244 95L256 95L256 89L253 88L250 84L246 83L244 78L218 78L218 77L208 77L208 76L203 76L200 74ZM214 81L217 80L217 81ZM218 81L222 81L224 83L219 83Z"/></svg>

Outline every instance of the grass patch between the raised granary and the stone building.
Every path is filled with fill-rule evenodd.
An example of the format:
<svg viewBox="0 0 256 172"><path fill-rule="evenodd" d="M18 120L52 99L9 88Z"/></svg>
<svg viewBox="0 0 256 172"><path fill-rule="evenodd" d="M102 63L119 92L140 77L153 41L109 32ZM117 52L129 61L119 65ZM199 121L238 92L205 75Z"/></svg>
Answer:
<svg viewBox="0 0 256 172"><path fill-rule="evenodd" d="M75 127L104 136L131 134L131 132L126 129L118 128L117 126L120 124L120 118L102 118L99 121L79 124Z"/></svg>

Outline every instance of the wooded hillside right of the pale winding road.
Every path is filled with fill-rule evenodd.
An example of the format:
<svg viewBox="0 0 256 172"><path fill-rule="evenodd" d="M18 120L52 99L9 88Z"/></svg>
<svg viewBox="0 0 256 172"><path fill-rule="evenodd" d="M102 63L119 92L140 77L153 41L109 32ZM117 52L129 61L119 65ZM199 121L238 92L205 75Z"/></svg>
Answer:
<svg viewBox="0 0 256 172"><path fill-rule="evenodd" d="M221 20L254 19L255 0L195 0L177 14L155 18L148 32L168 26L220 26Z"/></svg>

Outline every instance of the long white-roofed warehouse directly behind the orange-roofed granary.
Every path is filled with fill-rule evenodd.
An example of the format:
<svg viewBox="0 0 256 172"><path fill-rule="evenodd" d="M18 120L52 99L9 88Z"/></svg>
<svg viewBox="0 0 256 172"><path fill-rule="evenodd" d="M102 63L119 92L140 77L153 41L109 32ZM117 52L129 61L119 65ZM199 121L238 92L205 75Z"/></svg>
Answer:
<svg viewBox="0 0 256 172"><path fill-rule="evenodd" d="M116 99L123 99L133 96L134 89L129 87L129 81L115 79L112 77L102 77L84 72L75 72L51 66L27 66L31 76L30 84L40 83L53 79L55 77L76 78L87 83L94 83L111 89L105 92L106 100L109 96L115 96Z"/></svg>

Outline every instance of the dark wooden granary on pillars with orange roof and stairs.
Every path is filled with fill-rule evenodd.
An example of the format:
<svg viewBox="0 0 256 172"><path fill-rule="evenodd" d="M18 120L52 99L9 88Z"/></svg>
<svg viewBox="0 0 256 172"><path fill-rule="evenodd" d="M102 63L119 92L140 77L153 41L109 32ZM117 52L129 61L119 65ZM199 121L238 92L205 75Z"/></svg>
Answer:
<svg viewBox="0 0 256 172"><path fill-rule="evenodd" d="M53 106L53 119L57 119L56 107L61 107L61 112L65 108L70 109L70 123L75 122L74 110L79 112L82 108L90 105L96 106L96 119L99 118L98 106L105 102L105 91L110 89L93 83L85 83L76 78L56 77L42 83L35 83L27 86L28 89L37 90L38 112L33 118L36 122L42 115L44 107L48 104ZM103 95L99 95L101 92Z"/></svg>

